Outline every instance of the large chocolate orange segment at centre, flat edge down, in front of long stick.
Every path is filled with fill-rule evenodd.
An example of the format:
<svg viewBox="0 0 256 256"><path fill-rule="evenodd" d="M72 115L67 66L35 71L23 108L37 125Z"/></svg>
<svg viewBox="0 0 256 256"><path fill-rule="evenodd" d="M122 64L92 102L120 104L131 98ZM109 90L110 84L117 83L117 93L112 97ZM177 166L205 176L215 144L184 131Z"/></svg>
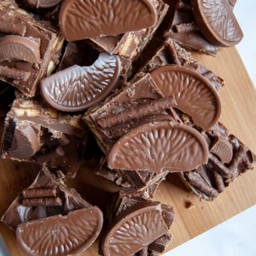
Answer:
<svg viewBox="0 0 256 256"><path fill-rule="evenodd" d="M108 166L117 170L160 173L193 170L208 161L205 139L197 130L178 123L152 122L130 131L116 142Z"/></svg>

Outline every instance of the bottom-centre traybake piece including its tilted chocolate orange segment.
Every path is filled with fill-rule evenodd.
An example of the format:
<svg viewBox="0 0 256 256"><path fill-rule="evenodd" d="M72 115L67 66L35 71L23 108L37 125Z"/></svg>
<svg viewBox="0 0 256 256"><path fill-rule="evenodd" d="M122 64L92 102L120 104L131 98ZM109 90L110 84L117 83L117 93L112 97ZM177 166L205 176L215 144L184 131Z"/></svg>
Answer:
<svg viewBox="0 0 256 256"><path fill-rule="evenodd" d="M170 244L168 230L174 221L171 206L141 198L118 198L107 218L100 248L104 256L156 256Z"/></svg>

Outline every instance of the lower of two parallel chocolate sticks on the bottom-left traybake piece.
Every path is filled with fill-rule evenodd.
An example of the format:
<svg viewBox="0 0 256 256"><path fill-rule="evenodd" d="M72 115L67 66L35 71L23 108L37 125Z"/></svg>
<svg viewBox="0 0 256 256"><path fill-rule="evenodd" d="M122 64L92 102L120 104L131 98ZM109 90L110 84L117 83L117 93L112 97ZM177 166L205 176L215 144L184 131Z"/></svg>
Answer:
<svg viewBox="0 0 256 256"><path fill-rule="evenodd" d="M26 198L22 200L22 206L62 206L61 198Z"/></svg>

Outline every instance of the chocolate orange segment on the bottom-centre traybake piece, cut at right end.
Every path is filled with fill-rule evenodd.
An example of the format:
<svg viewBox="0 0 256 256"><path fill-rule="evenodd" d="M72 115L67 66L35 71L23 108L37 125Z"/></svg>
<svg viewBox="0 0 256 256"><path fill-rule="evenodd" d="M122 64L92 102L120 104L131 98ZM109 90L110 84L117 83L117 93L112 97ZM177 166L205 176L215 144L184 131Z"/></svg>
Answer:
<svg viewBox="0 0 256 256"><path fill-rule="evenodd" d="M131 256L168 232L161 206L145 206L127 214L108 231L102 242L105 256Z"/></svg>

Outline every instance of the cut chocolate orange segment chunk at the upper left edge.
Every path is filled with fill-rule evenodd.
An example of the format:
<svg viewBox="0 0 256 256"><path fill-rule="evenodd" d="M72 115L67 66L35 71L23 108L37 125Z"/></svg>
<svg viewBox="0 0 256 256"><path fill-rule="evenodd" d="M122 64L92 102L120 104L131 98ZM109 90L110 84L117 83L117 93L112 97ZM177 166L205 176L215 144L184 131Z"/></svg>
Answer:
<svg viewBox="0 0 256 256"><path fill-rule="evenodd" d="M6 35L0 38L0 62L12 60L40 62L39 42L19 35Z"/></svg>

